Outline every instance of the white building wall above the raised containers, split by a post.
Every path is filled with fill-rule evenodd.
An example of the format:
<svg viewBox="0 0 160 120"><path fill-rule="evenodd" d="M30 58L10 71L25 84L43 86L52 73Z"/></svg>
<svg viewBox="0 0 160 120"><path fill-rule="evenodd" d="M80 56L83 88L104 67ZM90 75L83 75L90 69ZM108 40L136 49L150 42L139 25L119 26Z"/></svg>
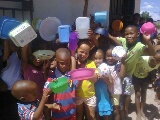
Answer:
<svg viewBox="0 0 160 120"><path fill-rule="evenodd" d="M89 0L88 15L109 11L110 0ZM83 15L84 0L34 0L34 18L57 17L62 24L73 24Z"/></svg>

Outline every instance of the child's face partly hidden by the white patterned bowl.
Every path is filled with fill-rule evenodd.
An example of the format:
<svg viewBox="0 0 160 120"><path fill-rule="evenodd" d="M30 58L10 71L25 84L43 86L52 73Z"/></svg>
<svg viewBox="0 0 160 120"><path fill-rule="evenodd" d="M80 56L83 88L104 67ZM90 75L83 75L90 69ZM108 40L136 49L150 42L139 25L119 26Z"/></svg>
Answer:
<svg viewBox="0 0 160 120"><path fill-rule="evenodd" d="M114 57L112 57L111 49L106 51L106 62L108 65L114 65L117 62L117 60Z"/></svg>

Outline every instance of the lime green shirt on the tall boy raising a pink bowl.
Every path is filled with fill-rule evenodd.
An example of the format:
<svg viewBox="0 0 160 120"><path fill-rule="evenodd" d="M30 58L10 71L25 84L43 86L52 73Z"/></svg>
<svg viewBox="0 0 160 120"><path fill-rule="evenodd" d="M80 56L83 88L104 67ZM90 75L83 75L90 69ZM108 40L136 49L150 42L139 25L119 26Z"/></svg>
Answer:
<svg viewBox="0 0 160 120"><path fill-rule="evenodd" d="M119 42L121 42L122 46L127 50L127 57L125 60L126 66L126 75L133 75L134 70L136 68L136 64L140 56L143 54L143 50L145 45L141 42L137 42L133 47L127 48L127 43L125 38L117 38Z"/></svg>

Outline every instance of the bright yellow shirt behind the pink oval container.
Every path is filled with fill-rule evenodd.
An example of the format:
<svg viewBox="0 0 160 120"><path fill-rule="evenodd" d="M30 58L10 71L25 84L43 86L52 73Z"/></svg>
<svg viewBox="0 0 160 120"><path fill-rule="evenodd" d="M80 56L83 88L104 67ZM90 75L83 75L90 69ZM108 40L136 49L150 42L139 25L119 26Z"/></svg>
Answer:
<svg viewBox="0 0 160 120"><path fill-rule="evenodd" d="M87 60L86 68L96 68L93 61ZM76 96L81 98L90 98L95 95L94 83L89 80L79 81L76 88Z"/></svg>

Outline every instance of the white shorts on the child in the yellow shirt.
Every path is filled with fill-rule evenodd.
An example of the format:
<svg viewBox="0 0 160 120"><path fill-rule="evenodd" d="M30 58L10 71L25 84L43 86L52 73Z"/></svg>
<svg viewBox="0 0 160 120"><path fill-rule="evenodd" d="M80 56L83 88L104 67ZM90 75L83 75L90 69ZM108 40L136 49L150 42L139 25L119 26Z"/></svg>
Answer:
<svg viewBox="0 0 160 120"><path fill-rule="evenodd" d="M81 105L83 103L85 103L86 105L90 106L90 107L96 107L96 96L92 96L90 98L80 98L80 97L76 97L76 105Z"/></svg>

